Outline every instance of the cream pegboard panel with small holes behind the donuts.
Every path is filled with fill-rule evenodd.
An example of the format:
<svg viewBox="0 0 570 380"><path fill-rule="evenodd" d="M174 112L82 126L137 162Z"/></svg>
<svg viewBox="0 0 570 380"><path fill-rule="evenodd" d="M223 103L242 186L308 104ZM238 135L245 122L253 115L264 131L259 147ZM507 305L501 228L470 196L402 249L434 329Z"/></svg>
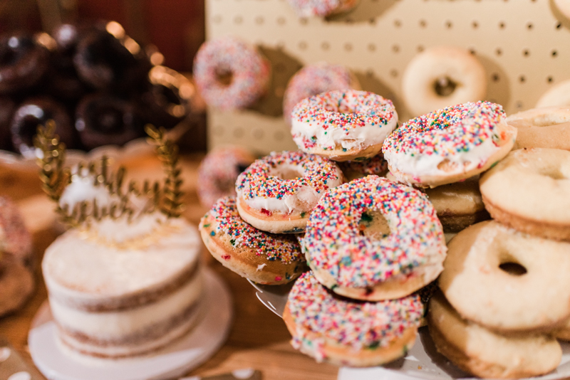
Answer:
<svg viewBox="0 0 570 380"><path fill-rule="evenodd" d="M348 14L300 19L286 0L206 0L207 38L237 36L271 61L269 93L251 110L209 110L209 147L296 149L281 115L291 76L324 60L351 68L364 90L392 99L400 121L408 62L430 46L466 48L487 72L486 99L508 114L534 107L570 78L570 21L551 0L361 0Z"/></svg>

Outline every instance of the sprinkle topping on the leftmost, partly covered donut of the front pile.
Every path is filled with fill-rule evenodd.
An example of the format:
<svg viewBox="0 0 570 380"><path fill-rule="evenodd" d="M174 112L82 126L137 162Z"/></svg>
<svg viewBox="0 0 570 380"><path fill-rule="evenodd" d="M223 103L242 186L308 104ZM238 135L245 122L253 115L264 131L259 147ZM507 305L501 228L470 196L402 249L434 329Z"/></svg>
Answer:
<svg viewBox="0 0 570 380"><path fill-rule="evenodd" d="M244 222L237 213L234 196L219 199L209 213L216 221L215 234L227 234L234 247L252 248L267 260L280 260L284 264L304 260L295 236L259 231Z"/></svg>

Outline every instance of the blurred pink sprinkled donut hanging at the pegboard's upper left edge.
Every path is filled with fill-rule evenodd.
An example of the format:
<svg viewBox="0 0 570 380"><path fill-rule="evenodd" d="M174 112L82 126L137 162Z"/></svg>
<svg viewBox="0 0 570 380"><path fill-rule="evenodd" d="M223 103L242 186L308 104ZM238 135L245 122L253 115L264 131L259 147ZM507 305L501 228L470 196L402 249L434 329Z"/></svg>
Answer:
<svg viewBox="0 0 570 380"><path fill-rule="evenodd" d="M200 46L192 71L208 105L220 110L249 107L269 86L269 62L247 43L217 38Z"/></svg>

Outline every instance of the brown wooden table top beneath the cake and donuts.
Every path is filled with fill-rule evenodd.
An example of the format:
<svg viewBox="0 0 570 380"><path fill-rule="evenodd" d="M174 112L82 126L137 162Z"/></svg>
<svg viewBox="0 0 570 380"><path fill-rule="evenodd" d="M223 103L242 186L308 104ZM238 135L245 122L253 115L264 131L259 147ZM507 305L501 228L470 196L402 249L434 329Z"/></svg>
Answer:
<svg viewBox="0 0 570 380"><path fill-rule="evenodd" d="M182 157L182 176L187 208L184 216L197 225L206 209L199 205L195 186L197 166L202 155ZM126 162L133 178L161 178L160 163L152 156ZM40 181L35 171L14 171L0 167L0 194L17 201L33 231L33 245L38 263L47 246L58 236L54 228L53 205L41 194ZM234 322L226 344L206 363L189 375L214 375L234 369L254 368L263 373L263 379L336 379L338 368L317 364L314 359L297 352L289 344L291 335L283 321L266 309L255 297L254 288L244 278L222 267L204 248L204 263L220 275L234 298ZM13 315L0 318L0 335L31 363L26 340L31 320L46 300L46 287L41 271L36 269L36 292L26 306Z"/></svg>

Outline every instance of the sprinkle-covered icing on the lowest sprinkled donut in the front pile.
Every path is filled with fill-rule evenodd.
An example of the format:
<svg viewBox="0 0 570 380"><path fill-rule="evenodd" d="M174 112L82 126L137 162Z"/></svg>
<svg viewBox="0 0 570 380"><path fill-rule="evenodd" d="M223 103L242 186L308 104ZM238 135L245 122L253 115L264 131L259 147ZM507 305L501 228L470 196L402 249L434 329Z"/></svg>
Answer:
<svg viewBox="0 0 570 380"><path fill-rule="evenodd" d="M418 295L380 302L338 297L311 272L296 280L288 305L295 324L301 327L296 329L293 347L310 347L317 361L326 359L323 346L331 341L356 352L388 347L406 329L419 327L424 309ZM304 330L309 330L310 336L304 336ZM321 337L314 339L314 334Z"/></svg>

